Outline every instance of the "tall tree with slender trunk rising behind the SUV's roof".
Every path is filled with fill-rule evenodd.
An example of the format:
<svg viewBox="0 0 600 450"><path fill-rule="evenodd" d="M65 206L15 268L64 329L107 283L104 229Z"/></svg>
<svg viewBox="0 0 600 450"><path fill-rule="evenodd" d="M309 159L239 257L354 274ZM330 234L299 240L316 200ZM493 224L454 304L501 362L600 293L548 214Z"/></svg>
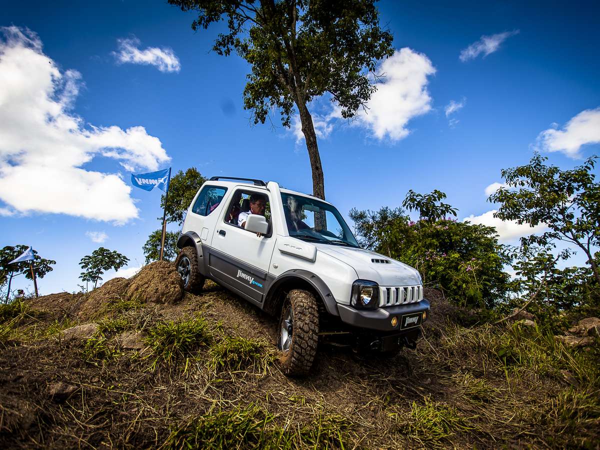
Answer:
<svg viewBox="0 0 600 450"><path fill-rule="evenodd" d="M313 194L325 199L325 181L308 104L331 94L343 118L352 118L376 89L369 73L391 56L392 35L379 26L375 0L169 0L197 11L191 27L208 29L226 20L227 31L212 47L219 55L236 50L251 65L244 109L254 124L278 109L290 127L298 109L313 174Z"/></svg>

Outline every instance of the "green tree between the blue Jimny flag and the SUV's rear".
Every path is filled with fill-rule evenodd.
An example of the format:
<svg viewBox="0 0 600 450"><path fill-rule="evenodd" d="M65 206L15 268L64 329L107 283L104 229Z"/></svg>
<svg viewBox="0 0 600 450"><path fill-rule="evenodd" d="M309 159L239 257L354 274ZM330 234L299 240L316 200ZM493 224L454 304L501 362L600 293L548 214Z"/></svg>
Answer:
<svg viewBox="0 0 600 450"><path fill-rule="evenodd" d="M190 208L191 201L205 181L206 178L198 172L196 167L190 167L185 173L179 170L175 176L171 177L171 182L169 183L169 203L167 204L167 222L177 222L180 226L184 223L184 214ZM165 201L166 195L163 194L160 197L161 208L164 208ZM159 217L158 220L162 222L163 218ZM158 247L160 248L160 242L158 243Z"/></svg>

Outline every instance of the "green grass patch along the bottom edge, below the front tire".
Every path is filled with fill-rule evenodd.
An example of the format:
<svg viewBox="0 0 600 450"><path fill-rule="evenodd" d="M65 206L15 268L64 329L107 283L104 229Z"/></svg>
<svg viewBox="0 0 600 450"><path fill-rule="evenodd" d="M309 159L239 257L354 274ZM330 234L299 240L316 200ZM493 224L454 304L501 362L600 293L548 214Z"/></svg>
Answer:
<svg viewBox="0 0 600 450"><path fill-rule="evenodd" d="M350 424L320 413L302 427L281 427L267 410L250 403L188 419L173 430L162 448L330 449L346 448Z"/></svg>

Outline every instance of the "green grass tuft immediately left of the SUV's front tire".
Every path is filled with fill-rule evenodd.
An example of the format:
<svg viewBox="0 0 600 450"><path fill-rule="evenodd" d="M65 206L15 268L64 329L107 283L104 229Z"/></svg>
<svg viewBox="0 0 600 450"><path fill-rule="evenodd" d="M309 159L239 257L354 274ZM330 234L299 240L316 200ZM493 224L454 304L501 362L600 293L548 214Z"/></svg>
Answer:
<svg viewBox="0 0 600 450"><path fill-rule="evenodd" d="M275 360L264 347L255 340L226 335L211 346L208 365L215 371L239 371L255 366L264 373Z"/></svg>

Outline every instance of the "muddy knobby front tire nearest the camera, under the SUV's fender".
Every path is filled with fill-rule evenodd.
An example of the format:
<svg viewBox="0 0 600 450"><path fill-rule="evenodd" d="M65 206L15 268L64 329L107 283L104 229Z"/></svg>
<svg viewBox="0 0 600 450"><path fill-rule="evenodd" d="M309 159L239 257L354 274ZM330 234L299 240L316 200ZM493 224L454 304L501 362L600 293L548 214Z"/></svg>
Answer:
<svg viewBox="0 0 600 450"><path fill-rule="evenodd" d="M281 326L287 308L292 308L293 332L289 350L281 349ZM278 327L278 346L282 350L280 365L287 376L308 374L317 354L319 343L319 307L314 295L307 290L293 289L287 294L281 309Z"/></svg>

